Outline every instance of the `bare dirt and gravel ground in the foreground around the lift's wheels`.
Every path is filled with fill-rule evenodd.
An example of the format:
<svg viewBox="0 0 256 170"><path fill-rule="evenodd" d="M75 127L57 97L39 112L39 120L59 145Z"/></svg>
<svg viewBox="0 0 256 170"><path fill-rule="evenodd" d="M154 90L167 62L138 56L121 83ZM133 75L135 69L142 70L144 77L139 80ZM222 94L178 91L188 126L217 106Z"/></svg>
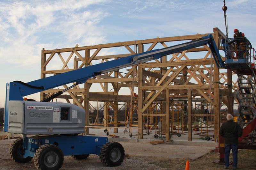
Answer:
<svg viewBox="0 0 256 170"><path fill-rule="evenodd" d="M0 140L0 169L23 170L35 169L33 159L25 164L18 164L10 159L8 154L9 143L12 140ZM159 144L152 146L145 143L120 142L124 146L127 156L119 167L104 166L97 155L90 155L85 160L75 160L70 156L64 157L61 169L185 169L186 161L190 161L190 169L224 169L223 165L212 163L219 158L218 152L211 152L212 147L184 146L172 144ZM175 149L174 149L175 148ZM203 152L198 158L195 154ZM160 156L161 155L161 156ZM192 155L192 157L191 157ZM240 150L238 152L238 167L240 169L255 169L256 151ZM197 159L193 159L197 157ZM192 159L189 159L192 158ZM232 157L230 157L232 159Z"/></svg>

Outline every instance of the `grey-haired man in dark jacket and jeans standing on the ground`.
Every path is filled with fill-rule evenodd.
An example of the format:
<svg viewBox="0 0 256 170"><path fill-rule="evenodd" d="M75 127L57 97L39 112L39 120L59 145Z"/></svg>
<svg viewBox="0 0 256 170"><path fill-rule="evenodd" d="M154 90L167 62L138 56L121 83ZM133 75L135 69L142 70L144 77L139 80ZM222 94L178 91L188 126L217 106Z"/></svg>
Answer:
<svg viewBox="0 0 256 170"><path fill-rule="evenodd" d="M229 153L232 148L233 153L233 169L237 169L237 151L238 151L238 137L242 136L243 129L237 122L233 121L233 116L227 114L227 122L220 127L220 136L225 138L225 169L229 166Z"/></svg>

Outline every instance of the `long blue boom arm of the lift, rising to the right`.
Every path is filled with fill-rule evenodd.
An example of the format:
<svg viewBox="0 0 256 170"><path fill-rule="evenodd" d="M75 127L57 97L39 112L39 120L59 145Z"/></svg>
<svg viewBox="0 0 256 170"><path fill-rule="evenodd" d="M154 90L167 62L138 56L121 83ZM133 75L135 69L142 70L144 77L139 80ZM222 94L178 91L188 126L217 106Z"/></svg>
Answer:
<svg viewBox="0 0 256 170"><path fill-rule="evenodd" d="M76 84L82 84L88 78L92 78L103 73L119 70L139 63L145 63L151 60L161 58L165 55L174 54L180 51L200 47L207 44L211 48L211 52L214 56L215 62L218 64L218 67L224 67L224 63L221 60L219 50L213 40L212 35L209 34L207 36L202 37L202 39L199 40L190 41L167 48L156 49L140 54L130 55L124 58L119 58L105 63L95 64L81 69L68 71L62 74L38 79L28 83L23 83L20 81L7 83L4 131L7 131L8 103L10 100L23 100L22 96L42 92L47 89L51 89L73 82L76 82Z"/></svg>

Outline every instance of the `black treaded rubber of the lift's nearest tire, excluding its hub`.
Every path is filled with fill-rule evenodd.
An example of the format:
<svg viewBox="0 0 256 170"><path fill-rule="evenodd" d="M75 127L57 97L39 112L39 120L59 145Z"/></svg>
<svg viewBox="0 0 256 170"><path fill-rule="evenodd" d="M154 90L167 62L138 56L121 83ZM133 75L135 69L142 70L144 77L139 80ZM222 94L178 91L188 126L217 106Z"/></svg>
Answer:
<svg viewBox="0 0 256 170"><path fill-rule="evenodd" d="M44 151L48 148L51 148L51 151L53 151L53 149L56 149L56 151L60 152L60 159L62 159L60 161L62 161L62 162L60 163L60 165L58 167L48 168L46 166L43 167L43 165L40 165L41 156L44 154ZM56 146L54 144L44 144L44 145L40 146L36 150L36 153L34 156L34 165L35 165L36 169L38 169L38 170L59 170L63 164L63 161L64 161L63 152L61 151L61 149L58 146Z"/></svg>

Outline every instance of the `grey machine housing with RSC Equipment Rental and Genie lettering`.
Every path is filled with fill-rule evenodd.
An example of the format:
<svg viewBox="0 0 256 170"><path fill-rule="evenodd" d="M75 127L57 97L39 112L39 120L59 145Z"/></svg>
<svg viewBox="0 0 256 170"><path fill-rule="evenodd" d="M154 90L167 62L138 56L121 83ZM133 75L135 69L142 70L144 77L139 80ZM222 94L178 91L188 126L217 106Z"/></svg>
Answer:
<svg viewBox="0 0 256 170"><path fill-rule="evenodd" d="M84 109L70 103L9 101L9 133L79 134L84 121Z"/></svg>

